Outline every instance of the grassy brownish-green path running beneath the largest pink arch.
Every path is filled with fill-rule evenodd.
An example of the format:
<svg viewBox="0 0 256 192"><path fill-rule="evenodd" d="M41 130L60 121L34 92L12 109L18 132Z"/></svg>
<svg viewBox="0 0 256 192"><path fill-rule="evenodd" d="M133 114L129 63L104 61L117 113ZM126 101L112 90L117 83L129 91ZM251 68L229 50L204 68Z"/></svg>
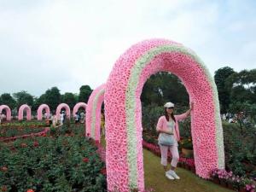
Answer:
<svg viewBox="0 0 256 192"><path fill-rule="evenodd" d="M105 146L105 140L101 143ZM146 189L154 189L155 192L230 192L220 185L197 177L194 173L183 168L177 168L176 172L180 180L169 180L165 176L160 165L160 157L143 149L144 179ZM170 166L170 165L169 165Z"/></svg>

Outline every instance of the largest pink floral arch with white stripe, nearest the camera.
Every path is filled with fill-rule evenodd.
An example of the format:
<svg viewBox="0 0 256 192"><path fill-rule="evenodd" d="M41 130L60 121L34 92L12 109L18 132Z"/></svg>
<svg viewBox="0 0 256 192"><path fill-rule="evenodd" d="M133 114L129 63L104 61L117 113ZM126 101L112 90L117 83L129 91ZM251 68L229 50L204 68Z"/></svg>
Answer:
<svg viewBox="0 0 256 192"><path fill-rule="evenodd" d="M218 92L211 74L203 61L183 44L151 39L126 50L116 61L106 84L109 190L144 189L140 96L146 80L160 71L177 75L189 93L190 102L195 103L191 131L196 174L208 178L212 169L224 168Z"/></svg>

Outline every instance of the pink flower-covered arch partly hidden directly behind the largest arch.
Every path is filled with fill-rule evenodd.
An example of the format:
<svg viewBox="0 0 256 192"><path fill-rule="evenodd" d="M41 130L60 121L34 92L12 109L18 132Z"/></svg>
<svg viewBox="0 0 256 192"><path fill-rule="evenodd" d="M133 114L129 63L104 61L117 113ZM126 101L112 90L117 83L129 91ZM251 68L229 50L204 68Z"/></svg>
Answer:
<svg viewBox="0 0 256 192"><path fill-rule="evenodd" d="M97 87L90 94L86 108L86 130L87 137L101 141L101 109L104 101L105 84Z"/></svg>

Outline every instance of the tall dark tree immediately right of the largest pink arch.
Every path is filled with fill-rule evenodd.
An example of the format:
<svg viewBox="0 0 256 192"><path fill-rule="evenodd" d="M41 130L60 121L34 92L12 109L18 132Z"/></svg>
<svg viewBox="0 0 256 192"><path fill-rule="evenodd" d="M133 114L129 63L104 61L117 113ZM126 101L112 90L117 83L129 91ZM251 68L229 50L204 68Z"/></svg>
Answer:
<svg viewBox="0 0 256 192"><path fill-rule="evenodd" d="M230 67L219 68L214 75L215 84L218 89L218 100L220 103L220 113L227 113L230 105L230 89L231 84L225 84L226 79L234 74L234 70Z"/></svg>

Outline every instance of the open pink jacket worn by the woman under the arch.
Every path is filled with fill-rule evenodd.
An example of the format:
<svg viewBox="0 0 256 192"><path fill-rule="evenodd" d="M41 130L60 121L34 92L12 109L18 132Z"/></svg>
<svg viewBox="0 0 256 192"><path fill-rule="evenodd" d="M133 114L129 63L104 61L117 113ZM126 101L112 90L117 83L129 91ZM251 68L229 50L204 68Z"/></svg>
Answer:
<svg viewBox="0 0 256 192"><path fill-rule="evenodd" d="M179 129L178 129L178 121L181 121L183 119L186 119L189 116L189 113L183 113L183 114L179 114L179 115L174 115L175 119L176 119L176 123L175 123L175 131L173 133L174 138L179 141L180 140L180 136L179 136ZM163 115L160 117L160 119L158 119L158 123L156 125L156 131L160 131L160 130L167 130L167 120L166 120L166 116Z"/></svg>

